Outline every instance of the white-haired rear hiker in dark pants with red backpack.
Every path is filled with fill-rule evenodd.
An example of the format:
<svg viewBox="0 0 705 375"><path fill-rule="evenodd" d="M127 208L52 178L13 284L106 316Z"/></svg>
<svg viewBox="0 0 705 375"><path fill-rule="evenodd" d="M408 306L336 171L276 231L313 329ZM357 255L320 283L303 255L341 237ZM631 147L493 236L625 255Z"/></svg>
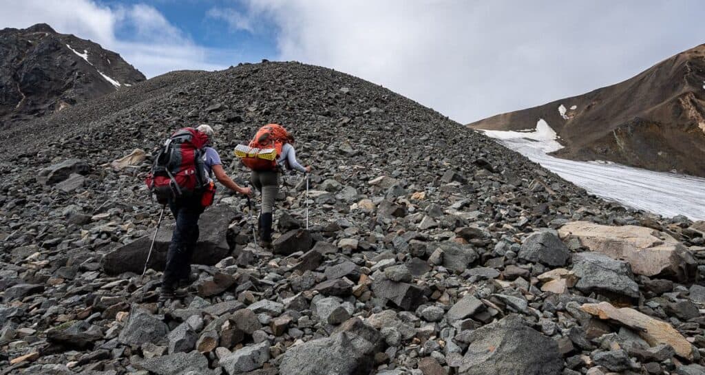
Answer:
<svg viewBox="0 0 705 375"><path fill-rule="evenodd" d="M147 177L147 186L157 202L168 204L176 219L159 300L185 295L177 288L189 283L191 256L199 236L198 219L213 204L213 178L230 190L252 195L250 187L241 187L223 171L218 152L210 147L213 138L213 128L205 124L178 130L161 147Z"/></svg>

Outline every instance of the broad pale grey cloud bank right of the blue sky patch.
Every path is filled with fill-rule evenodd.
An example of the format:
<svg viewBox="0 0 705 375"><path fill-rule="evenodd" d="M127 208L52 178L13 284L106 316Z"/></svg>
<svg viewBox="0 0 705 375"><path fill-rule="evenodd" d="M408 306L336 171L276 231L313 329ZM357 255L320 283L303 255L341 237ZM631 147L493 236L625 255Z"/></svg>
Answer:
<svg viewBox="0 0 705 375"><path fill-rule="evenodd" d="M245 1L278 28L281 59L465 123L611 85L702 42L698 1Z"/></svg>

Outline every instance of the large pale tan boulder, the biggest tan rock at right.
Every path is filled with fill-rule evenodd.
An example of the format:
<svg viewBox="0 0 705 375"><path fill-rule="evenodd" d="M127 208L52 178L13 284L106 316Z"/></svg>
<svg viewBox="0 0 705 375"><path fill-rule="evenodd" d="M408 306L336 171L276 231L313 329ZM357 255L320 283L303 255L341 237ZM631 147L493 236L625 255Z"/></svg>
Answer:
<svg viewBox="0 0 705 375"><path fill-rule="evenodd" d="M684 245L651 228L573 221L558 229L558 235L563 240L576 239L592 252L629 262L637 275L687 281L697 271L697 262Z"/></svg>

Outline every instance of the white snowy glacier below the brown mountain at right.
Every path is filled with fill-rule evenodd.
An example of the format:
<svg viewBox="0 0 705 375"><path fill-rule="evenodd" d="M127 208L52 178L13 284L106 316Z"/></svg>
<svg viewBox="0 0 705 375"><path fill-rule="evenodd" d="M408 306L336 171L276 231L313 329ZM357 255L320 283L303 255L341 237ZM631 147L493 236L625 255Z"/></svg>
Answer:
<svg viewBox="0 0 705 375"><path fill-rule="evenodd" d="M481 130L591 194L662 216L705 220L705 178L647 171L603 161L572 161L548 155L563 146L546 121L526 131Z"/></svg>

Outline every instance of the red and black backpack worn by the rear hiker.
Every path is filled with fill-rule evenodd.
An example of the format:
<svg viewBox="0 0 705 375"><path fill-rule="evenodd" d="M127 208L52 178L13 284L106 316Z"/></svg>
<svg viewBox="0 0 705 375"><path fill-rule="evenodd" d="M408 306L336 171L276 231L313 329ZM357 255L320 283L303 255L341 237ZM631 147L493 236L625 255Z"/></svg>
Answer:
<svg viewBox="0 0 705 375"><path fill-rule="evenodd" d="M209 185L203 147L208 136L194 128L183 128L164 142L147 175L147 188L165 204L169 199L200 194Z"/></svg>

